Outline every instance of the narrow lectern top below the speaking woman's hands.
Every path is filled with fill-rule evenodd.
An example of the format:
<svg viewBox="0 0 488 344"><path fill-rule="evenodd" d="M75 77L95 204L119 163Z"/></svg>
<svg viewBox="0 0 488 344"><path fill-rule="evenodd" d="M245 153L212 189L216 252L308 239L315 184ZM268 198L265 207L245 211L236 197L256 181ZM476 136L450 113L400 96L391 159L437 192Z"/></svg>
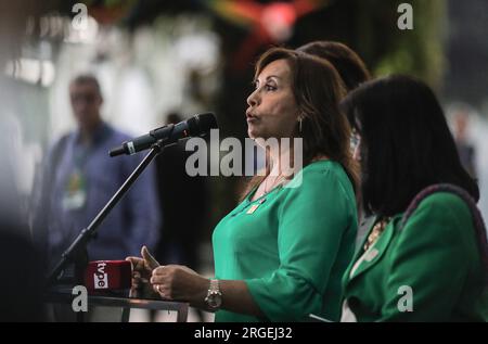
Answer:
<svg viewBox="0 0 488 344"><path fill-rule="evenodd" d="M74 297L76 297L76 295L72 295L72 293L67 292L50 292L46 295L44 303L70 305ZM177 322L187 322L189 308L189 304L183 302L99 295L88 295L88 305L121 308L121 322L129 322L130 309L132 308L176 311ZM85 314L82 311L79 311L76 315L78 322L85 321Z"/></svg>

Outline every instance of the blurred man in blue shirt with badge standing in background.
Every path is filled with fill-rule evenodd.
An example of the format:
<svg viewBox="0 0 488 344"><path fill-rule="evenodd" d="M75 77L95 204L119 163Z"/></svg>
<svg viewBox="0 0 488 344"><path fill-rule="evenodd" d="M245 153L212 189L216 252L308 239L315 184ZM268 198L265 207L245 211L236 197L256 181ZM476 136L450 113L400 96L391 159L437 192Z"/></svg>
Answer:
<svg viewBox="0 0 488 344"><path fill-rule="evenodd" d="M78 129L62 137L50 150L43 163L41 189L36 195L33 232L48 254L49 266L60 259L142 157L108 157L110 149L129 137L102 120L103 99L95 77L76 77L70 82L69 97ZM138 254L142 244L154 247L159 226L154 183L150 166L89 243L90 260Z"/></svg>

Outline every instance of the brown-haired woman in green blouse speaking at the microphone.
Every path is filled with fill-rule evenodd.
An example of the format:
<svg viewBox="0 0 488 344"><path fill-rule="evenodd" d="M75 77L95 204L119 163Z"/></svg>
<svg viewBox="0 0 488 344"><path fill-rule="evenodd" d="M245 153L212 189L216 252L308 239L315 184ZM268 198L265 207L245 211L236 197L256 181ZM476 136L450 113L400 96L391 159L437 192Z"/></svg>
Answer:
<svg viewBox="0 0 488 344"><path fill-rule="evenodd" d="M325 60L273 48L257 62L255 87L246 119L248 136L267 150L266 173L214 231L215 279L158 266L143 249L142 258L128 258L133 288L150 279L163 298L217 311L216 321L338 321L357 231L339 76ZM265 144L273 138L299 138L303 152ZM286 169L294 154L303 165Z"/></svg>

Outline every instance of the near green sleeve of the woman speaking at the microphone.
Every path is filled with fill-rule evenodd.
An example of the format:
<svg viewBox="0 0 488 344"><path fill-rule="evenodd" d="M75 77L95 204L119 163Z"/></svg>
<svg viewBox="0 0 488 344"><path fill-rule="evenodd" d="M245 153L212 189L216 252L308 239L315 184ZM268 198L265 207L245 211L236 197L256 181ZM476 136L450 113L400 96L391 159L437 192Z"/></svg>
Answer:
<svg viewBox="0 0 488 344"><path fill-rule="evenodd" d="M300 184L290 184L286 191L279 212L280 266L268 276L245 280L249 293L271 321L300 321L324 310L338 317L339 297L328 303L324 293L331 282L341 293L342 270L354 253L357 218L351 186L334 170L310 170ZM351 240L344 240L346 233ZM334 272L337 277L331 281ZM326 311L328 307L334 310Z"/></svg>

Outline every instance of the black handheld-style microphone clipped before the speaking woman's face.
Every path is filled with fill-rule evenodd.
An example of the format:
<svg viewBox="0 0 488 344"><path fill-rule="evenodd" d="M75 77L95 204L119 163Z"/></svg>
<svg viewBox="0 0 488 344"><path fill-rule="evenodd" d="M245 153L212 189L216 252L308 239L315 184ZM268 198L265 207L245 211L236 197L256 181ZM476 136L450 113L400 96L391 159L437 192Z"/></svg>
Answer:
<svg viewBox="0 0 488 344"><path fill-rule="evenodd" d="M218 126L214 114L200 114L176 125L170 124L151 130L150 133L134 138L132 141L126 141L121 145L111 150L108 154L110 156L117 156L121 154L131 155L150 149L159 140L163 140L163 145L168 145L177 142L179 139L203 136L210 129L216 128L218 128Z"/></svg>

